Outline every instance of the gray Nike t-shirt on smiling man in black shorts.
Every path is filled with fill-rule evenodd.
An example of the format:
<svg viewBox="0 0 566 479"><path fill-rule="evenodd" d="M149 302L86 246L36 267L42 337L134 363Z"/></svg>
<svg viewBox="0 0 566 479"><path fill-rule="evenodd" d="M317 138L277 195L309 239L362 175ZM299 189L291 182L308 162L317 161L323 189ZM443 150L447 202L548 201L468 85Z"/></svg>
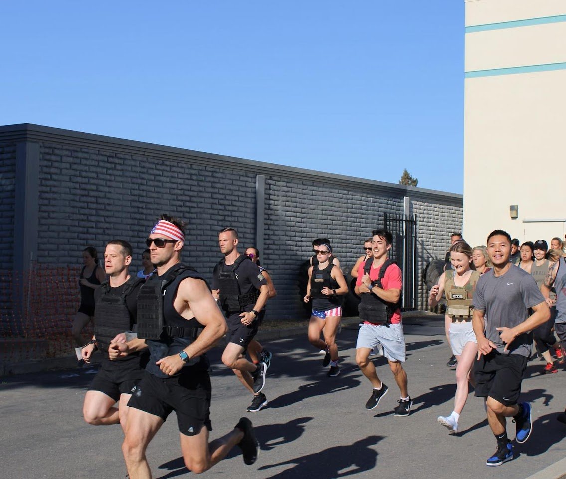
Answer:
<svg viewBox="0 0 566 479"><path fill-rule="evenodd" d="M474 308L486 314L486 337L503 353L505 345L501 342L499 331L495 328L513 328L529 317L529 308L544 301L537 283L529 273L514 264L499 277L491 270L482 275L475 286ZM517 336L509 352L530 356L532 333Z"/></svg>

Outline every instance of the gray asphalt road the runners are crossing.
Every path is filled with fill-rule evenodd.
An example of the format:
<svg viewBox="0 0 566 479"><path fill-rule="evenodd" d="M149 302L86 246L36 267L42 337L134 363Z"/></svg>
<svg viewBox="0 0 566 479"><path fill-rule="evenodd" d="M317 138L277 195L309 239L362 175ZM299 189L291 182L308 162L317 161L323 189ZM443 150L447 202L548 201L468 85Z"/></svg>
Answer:
<svg viewBox="0 0 566 479"><path fill-rule="evenodd" d="M245 412L250 396L221 366L220 352L213 351L211 437L224 434L247 414L256 425L262 450L251 467L234 451L203 477L520 479L564 457L566 426L555 417L566 405L566 370L541 375L542 362L529 363L523 397L533 404L533 434L515 447L513 461L488 468L484 461L494 451L495 440L481 400L470 394L456 435L436 422L437 416L452 410L454 371L445 367L449 352L441 323L423 324L405 327L414 407L404 418L393 417L397 388L383 358L375 363L389 394L377 409L364 409L371 390L354 362L356 328L344 329L338 339L342 374L336 378L325 377L321 356L305 337L272 341L275 354L265 387L270 403L259 413ZM91 378L88 371L67 370L2 379L1 477L125 476L119 426L89 426L82 421L83 396ZM171 416L149 447L156 478L191 474L180 457L176 422ZM508 430L513 437L510 421Z"/></svg>

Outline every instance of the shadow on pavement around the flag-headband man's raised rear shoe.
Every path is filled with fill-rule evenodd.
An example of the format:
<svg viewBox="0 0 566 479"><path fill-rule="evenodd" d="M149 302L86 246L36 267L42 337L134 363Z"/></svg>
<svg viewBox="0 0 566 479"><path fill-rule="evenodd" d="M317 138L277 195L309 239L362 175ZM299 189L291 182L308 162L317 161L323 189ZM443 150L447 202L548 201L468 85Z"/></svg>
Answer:
<svg viewBox="0 0 566 479"><path fill-rule="evenodd" d="M306 423L312 419L312 417L298 417L289 422L256 426L255 434L261 445L261 450L270 451L277 446L297 440L305 432ZM239 455L241 455L239 448L233 447L226 455L225 459ZM189 472L185 467L185 462L183 461L182 456L161 464L159 469L169 469L170 472L166 473L165 476L160 476L158 479L167 479L169 477L180 476L181 474Z"/></svg>

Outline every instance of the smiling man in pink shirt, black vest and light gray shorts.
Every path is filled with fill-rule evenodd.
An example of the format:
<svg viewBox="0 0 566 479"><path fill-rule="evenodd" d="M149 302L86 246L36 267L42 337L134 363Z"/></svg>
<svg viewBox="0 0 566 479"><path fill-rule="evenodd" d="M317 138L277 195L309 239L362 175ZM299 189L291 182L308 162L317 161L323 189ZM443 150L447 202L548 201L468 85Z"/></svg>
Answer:
<svg viewBox="0 0 566 479"><path fill-rule="evenodd" d="M413 400L409 396L407 373L402 366L406 359L405 335L399 309L402 274L397 264L388 258L393 243L392 234L385 229L375 229L371 233L373 258L360 264L355 286L355 293L361 298L359 319L363 323L358 332L355 360L374 387L366 402L366 409L374 409L389 388L379 379L369 356L376 346L383 346L385 357L401 391L395 416L409 416Z"/></svg>

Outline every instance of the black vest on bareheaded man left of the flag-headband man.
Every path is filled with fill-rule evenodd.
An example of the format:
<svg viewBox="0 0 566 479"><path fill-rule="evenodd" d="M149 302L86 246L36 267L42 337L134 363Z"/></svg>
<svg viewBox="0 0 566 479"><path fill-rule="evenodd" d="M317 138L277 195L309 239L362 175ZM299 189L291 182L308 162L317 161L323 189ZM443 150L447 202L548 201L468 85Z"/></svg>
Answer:
<svg viewBox="0 0 566 479"><path fill-rule="evenodd" d="M132 319L126 304L126 297L143 279L130 276L124 283L121 294L112 294L108 280L100 286L102 294L95 305L95 338L98 349L106 352L110 341L116 335L132 330Z"/></svg>

